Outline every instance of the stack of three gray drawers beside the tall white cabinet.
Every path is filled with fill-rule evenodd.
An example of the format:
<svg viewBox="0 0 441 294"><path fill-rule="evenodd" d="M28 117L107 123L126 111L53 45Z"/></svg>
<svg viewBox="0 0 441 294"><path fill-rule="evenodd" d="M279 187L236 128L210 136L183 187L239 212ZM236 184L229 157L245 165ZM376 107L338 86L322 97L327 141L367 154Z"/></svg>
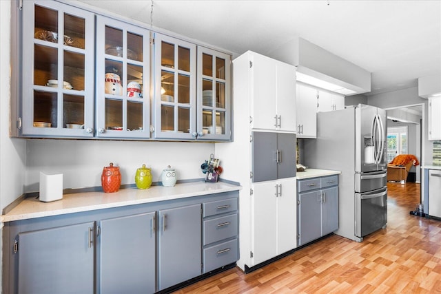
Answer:
<svg viewBox="0 0 441 294"><path fill-rule="evenodd" d="M203 273L238 260L238 199L203 203Z"/></svg>

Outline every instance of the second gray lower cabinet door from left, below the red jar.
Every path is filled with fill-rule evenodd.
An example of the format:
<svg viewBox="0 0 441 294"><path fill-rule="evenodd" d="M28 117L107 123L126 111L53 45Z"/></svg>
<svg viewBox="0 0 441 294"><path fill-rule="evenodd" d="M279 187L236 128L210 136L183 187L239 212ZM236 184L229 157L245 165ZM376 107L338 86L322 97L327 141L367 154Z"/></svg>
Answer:
<svg viewBox="0 0 441 294"><path fill-rule="evenodd" d="M155 212L99 222L98 293L154 293Z"/></svg>

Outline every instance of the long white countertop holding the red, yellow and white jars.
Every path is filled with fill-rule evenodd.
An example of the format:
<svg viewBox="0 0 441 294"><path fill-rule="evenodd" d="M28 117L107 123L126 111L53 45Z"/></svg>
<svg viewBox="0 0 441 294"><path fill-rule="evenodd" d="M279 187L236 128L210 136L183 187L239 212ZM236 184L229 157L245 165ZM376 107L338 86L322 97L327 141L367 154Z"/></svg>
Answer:
<svg viewBox="0 0 441 294"><path fill-rule="evenodd" d="M225 182L211 183L200 181L176 184L174 187L152 186L145 190L134 187L121 189L115 193L104 193L102 191L71 193L63 195L63 199L54 202L41 202L32 197L26 198L17 207L1 216L1 222L203 196L212 193L238 191L240 189L240 186Z"/></svg>

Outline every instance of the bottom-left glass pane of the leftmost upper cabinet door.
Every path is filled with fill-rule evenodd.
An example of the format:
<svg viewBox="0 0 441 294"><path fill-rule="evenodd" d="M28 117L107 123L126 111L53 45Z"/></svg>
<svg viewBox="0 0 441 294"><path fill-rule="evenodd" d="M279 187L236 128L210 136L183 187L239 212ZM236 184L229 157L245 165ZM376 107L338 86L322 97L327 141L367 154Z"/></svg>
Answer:
<svg viewBox="0 0 441 294"><path fill-rule="evenodd" d="M57 127L57 93L34 90L34 127Z"/></svg>

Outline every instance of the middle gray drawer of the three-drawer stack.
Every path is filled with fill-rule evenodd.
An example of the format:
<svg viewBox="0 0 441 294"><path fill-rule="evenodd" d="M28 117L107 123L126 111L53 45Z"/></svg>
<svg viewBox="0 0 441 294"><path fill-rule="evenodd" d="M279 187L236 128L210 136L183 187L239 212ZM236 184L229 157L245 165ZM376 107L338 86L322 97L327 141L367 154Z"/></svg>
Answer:
<svg viewBox="0 0 441 294"><path fill-rule="evenodd" d="M203 224L204 246L212 242L234 237L237 233L237 213L212 220L205 220Z"/></svg>

